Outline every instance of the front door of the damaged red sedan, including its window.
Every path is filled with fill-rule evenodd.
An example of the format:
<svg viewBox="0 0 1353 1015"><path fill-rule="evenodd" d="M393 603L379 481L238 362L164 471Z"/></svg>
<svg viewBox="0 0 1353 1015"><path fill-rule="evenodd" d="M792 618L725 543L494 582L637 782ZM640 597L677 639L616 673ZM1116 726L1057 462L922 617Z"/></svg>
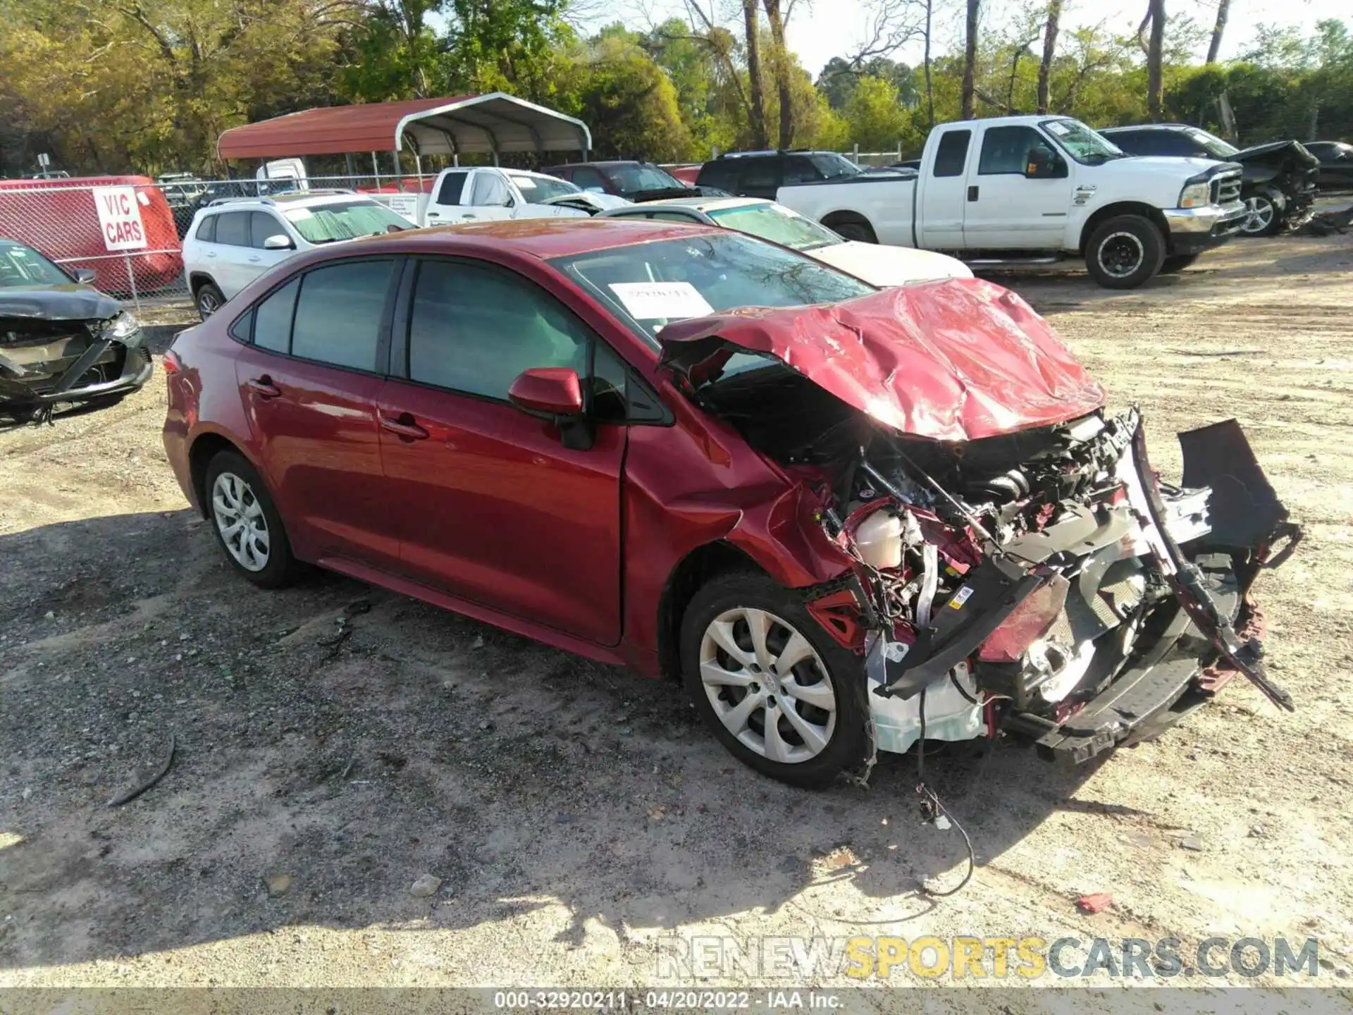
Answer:
<svg viewBox="0 0 1353 1015"><path fill-rule="evenodd" d="M622 422L594 444L514 409L533 367L586 378L599 340L536 283L484 264L425 260L407 344L380 398L382 455L406 574L597 644L620 639ZM586 380L584 380L586 383Z"/></svg>

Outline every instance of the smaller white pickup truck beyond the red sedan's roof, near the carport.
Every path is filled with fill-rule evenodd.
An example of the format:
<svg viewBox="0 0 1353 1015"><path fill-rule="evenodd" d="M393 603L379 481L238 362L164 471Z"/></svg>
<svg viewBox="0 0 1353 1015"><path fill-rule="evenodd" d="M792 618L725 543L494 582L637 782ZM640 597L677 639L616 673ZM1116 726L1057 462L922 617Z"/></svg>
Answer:
<svg viewBox="0 0 1353 1015"><path fill-rule="evenodd" d="M503 218L587 218L629 204L590 194L556 176L494 165L442 169L429 194L369 194L415 226L451 226Z"/></svg>

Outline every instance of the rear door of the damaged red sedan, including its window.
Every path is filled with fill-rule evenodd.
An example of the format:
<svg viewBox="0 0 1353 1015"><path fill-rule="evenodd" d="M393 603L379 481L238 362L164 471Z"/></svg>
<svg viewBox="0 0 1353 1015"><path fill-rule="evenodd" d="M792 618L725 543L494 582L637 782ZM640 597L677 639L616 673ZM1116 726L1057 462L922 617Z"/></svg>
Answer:
<svg viewBox="0 0 1353 1015"><path fill-rule="evenodd" d="M269 489L307 559L399 568L376 415L396 264L345 260L292 279L254 307L252 344L235 357Z"/></svg>

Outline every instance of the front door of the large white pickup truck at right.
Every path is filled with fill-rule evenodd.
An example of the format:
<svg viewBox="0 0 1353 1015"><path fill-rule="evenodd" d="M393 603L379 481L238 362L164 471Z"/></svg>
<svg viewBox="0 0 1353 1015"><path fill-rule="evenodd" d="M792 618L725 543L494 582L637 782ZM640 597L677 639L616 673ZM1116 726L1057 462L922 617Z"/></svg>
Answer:
<svg viewBox="0 0 1353 1015"><path fill-rule="evenodd" d="M1061 162L1062 175L1024 176L1035 148ZM988 127L969 158L963 245L969 250L1059 250L1072 210L1066 160L1034 127Z"/></svg>

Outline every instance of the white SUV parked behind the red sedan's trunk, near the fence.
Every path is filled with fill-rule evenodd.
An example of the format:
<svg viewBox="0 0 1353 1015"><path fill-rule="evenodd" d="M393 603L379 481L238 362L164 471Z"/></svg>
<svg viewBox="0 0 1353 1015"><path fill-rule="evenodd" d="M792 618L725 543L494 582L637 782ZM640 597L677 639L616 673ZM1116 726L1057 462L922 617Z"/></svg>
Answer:
<svg viewBox="0 0 1353 1015"><path fill-rule="evenodd" d="M384 204L348 191L223 198L193 215L183 241L184 275L206 319L298 250L411 227Z"/></svg>

